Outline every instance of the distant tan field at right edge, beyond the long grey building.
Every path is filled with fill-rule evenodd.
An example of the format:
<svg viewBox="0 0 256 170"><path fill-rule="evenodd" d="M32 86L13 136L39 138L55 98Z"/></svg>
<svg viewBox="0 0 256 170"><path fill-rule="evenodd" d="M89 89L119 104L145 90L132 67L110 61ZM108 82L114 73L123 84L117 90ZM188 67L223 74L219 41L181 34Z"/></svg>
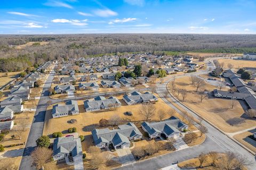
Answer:
<svg viewBox="0 0 256 170"><path fill-rule="evenodd" d="M242 67L256 67L256 61L249 60L233 60L227 58L221 58L218 60L219 63L224 63L223 67L228 68L228 64L233 65L233 69L239 69Z"/></svg>

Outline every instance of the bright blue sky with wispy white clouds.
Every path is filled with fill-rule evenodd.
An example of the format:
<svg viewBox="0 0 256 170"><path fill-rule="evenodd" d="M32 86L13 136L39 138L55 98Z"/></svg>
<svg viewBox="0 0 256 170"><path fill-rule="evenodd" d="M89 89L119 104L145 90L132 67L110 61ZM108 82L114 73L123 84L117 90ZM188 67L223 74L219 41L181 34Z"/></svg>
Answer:
<svg viewBox="0 0 256 170"><path fill-rule="evenodd" d="M1 0L0 34L256 33L252 0Z"/></svg>

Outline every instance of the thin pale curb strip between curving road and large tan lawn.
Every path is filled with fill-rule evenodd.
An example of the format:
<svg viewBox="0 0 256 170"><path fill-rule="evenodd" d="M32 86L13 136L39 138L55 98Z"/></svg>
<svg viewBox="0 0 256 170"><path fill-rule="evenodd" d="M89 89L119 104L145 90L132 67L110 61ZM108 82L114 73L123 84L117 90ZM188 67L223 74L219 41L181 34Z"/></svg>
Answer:
<svg viewBox="0 0 256 170"><path fill-rule="evenodd" d="M169 82L167 83L169 84ZM166 88L167 88L167 84L166 84ZM188 106L186 106L185 104L181 103L180 100L178 100L176 97L174 97L171 92L169 90L167 90L168 93L178 102L180 103L182 106L186 107L187 109L189 109L190 112L193 112L194 114L196 114L197 116L202 117L201 115L199 115L197 112L193 111L193 109L189 108ZM236 139L231 138L228 134L226 134L226 132L222 131L220 128L218 128L217 126L215 126L213 123L211 123L209 120L207 120L206 118L202 117L203 120L207 123L209 123L210 125L213 126L213 128L217 129L218 131L220 131L221 133L225 134L229 139L233 140L234 142L236 142L239 146L243 147L245 150L249 151L252 155L255 156L255 152L252 151L251 149L247 148L246 146L244 146L242 143L238 142Z"/></svg>

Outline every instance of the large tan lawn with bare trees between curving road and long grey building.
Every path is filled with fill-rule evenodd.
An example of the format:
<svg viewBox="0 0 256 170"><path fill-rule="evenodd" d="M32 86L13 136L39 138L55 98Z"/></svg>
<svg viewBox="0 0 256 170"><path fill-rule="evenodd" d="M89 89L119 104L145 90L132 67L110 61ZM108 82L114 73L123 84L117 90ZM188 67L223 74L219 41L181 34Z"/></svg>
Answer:
<svg viewBox="0 0 256 170"><path fill-rule="evenodd" d="M225 132L237 132L247 128L251 128L255 125L254 120L250 120L244 116L244 109L242 108L241 102L235 101L234 108L231 107L231 101L229 99L214 98L212 95L208 95L205 99L200 102L200 96L195 92L195 87L191 85L189 77L177 78L175 80L175 85L179 89L185 89L187 91L187 96L183 103L189 108L193 109L202 117L206 118L213 124L217 125L218 128ZM170 86L170 84L169 84ZM210 84L206 83L206 86L202 90L208 90L211 92L216 89ZM228 90L228 89L223 89ZM177 96L176 92L172 92ZM182 96L178 96L179 100L182 101ZM210 104L210 105L209 105Z"/></svg>

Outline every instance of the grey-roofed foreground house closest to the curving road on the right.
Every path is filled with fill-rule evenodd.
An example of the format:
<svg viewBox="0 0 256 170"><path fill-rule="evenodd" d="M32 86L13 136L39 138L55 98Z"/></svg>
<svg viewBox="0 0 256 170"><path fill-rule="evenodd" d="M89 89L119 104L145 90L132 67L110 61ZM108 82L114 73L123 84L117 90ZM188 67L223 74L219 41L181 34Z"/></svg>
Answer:
<svg viewBox="0 0 256 170"><path fill-rule="evenodd" d="M180 131L188 129L188 125L172 116L161 122L142 122L141 128L148 133L151 139L161 137L161 134L164 134L166 138L178 138Z"/></svg>

